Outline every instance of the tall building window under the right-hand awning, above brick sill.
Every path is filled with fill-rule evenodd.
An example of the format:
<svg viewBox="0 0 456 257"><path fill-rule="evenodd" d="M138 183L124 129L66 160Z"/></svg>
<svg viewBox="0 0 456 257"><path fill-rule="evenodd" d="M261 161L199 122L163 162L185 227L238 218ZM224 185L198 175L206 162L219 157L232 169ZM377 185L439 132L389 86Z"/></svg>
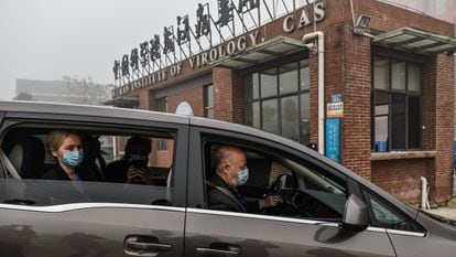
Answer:
<svg viewBox="0 0 456 257"><path fill-rule="evenodd" d="M373 56L372 69L372 151L421 149L421 67Z"/></svg>

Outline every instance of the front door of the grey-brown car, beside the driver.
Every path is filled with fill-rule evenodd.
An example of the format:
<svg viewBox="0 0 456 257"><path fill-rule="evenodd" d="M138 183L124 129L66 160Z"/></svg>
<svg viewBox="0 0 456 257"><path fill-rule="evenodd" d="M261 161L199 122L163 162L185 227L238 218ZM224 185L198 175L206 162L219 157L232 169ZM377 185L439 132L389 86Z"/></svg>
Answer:
<svg viewBox="0 0 456 257"><path fill-rule="evenodd" d="M257 132L261 135L262 132ZM204 149L208 140L234 144L243 150L286 154L296 162L312 163L327 173L336 173L329 165L304 152L264 138L246 135L241 130L227 131L202 127L191 128L189 197L186 217L186 256L395 256L382 228L346 232L332 218L287 217L262 213L235 213L208 210L205 200L205 170L208 161ZM249 161L248 161L249 163ZM205 168L206 167L206 168ZM249 180L256 171L249 167ZM336 174L337 176L337 174ZM340 176L343 178L343 176ZM348 184L345 180L348 193ZM329 203L330 205L330 203Z"/></svg>

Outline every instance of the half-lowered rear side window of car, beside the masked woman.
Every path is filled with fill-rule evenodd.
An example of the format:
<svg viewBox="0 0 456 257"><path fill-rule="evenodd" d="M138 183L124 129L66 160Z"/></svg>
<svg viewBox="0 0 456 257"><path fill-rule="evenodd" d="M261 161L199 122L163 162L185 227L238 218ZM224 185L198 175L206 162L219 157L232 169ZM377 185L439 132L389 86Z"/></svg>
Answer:
<svg viewBox="0 0 456 257"><path fill-rule="evenodd" d="M36 126L39 127L39 126ZM55 130L77 131L84 159L70 180L48 149ZM173 205L174 131L33 126L10 129L1 143L6 167L0 201L48 206L68 203ZM145 148L141 148L141 141ZM167 143L159 151L159 141Z"/></svg>

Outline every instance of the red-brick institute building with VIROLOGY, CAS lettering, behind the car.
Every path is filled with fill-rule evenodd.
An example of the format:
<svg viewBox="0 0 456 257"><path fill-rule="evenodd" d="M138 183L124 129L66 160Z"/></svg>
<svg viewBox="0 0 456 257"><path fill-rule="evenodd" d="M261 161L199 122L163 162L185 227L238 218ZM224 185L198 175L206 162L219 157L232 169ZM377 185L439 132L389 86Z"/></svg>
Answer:
<svg viewBox="0 0 456 257"><path fill-rule="evenodd" d="M195 116L316 143L409 203L424 176L442 203L453 190L454 38L454 24L384 2L315 1L119 85L112 103L174 113L186 101Z"/></svg>

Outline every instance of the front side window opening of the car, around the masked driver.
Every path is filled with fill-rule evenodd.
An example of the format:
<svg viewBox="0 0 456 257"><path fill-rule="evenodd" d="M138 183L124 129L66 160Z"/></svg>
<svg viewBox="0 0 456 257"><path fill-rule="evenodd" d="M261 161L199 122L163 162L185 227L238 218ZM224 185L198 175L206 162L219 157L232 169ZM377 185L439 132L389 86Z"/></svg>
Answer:
<svg viewBox="0 0 456 257"><path fill-rule="evenodd" d="M246 206L270 195L279 196L276 205L260 210L247 207L245 210L247 213L341 221L346 201L344 180L332 175L315 164L285 153L282 154L273 149L231 144L245 152L246 167L249 170L247 182L242 185L232 186L229 185L229 181L221 182L220 178L224 175L218 174L217 161L214 161L220 146L227 144L207 142L204 146L206 181L209 183L209 186L206 188L209 210L234 211L232 208L224 210L220 207L220 204L224 204L220 199L225 197L224 193L220 192L227 190L232 192L234 197L232 195L228 199L225 197L225 201L238 199L241 203L246 202ZM225 188L225 190L217 192L217 189L214 189L211 184ZM225 194L227 193L225 192ZM218 201L217 204L211 204L215 201Z"/></svg>

